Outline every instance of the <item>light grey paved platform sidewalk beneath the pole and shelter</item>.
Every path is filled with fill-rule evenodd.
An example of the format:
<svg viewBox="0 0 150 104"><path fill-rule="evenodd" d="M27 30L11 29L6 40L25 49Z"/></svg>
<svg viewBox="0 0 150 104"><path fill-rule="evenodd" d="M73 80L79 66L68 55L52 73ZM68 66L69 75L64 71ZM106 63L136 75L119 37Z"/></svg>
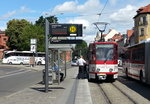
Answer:
<svg viewBox="0 0 150 104"><path fill-rule="evenodd" d="M33 67L40 71L42 66ZM32 70L31 69L31 70ZM92 104L87 79L77 79L78 67L67 69L67 77L58 85L45 86L41 83L30 86L12 95L0 98L1 104Z"/></svg>

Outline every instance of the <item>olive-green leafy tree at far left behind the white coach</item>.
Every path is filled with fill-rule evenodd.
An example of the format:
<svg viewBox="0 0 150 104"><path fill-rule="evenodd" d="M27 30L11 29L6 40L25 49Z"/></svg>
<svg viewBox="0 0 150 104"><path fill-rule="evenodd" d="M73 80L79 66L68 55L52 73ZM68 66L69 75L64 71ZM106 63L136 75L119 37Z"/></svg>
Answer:
<svg viewBox="0 0 150 104"><path fill-rule="evenodd" d="M13 19L7 23L6 35L9 37L8 47L13 50L20 50L22 43L22 31L25 26L30 25L25 19Z"/></svg>

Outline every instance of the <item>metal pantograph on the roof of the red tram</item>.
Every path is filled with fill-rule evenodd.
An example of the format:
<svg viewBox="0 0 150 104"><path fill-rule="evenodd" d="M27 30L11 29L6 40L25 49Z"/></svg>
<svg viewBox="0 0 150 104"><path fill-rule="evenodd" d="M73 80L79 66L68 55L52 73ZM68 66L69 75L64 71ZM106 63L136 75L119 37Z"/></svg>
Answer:
<svg viewBox="0 0 150 104"><path fill-rule="evenodd" d="M97 27L97 29L98 29L99 32L101 33L101 37L100 37L100 39L98 40L98 42L104 42L105 39L104 39L104 37L103 37L103 32L105 31L106 26L107 26L109 23L107 23L107 22L95 22L95 23L93 23L93 24ZM101 25L103 28L100 29L100 27L99 27L98 25Z"/></svg>

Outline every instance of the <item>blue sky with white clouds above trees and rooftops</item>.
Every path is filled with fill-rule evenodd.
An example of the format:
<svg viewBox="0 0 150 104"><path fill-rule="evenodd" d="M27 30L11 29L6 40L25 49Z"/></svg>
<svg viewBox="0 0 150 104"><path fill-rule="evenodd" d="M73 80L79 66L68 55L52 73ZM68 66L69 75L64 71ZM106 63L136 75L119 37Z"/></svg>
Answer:
<svg viewBox="0 0 150 104"><path fill-rule="evenodd" d="M134 26L136 11L150 4L150 0L2 0L0 30L12 19L26 19L35 23L40 16L56 16L59 23L83 24L83 39L94 41L97 28L93 23L109 23L109 29L125 34ZM101 15L98 15L100 14ZM103 28L103 25L99 25Z"/></svg>

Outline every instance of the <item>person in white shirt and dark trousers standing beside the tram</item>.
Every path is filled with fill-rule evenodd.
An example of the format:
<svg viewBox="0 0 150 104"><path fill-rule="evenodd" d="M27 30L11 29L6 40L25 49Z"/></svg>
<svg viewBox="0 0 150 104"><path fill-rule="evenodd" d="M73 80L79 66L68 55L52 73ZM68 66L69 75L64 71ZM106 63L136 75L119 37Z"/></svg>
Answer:
<svg viewBox="0 0 150 104"><path fill-rule="evenodd" d="M84 65L86 64L86 61L83 59L82 56L77 60L77 65L79 66L79 74L78 78L84 76Z"/></svg>

